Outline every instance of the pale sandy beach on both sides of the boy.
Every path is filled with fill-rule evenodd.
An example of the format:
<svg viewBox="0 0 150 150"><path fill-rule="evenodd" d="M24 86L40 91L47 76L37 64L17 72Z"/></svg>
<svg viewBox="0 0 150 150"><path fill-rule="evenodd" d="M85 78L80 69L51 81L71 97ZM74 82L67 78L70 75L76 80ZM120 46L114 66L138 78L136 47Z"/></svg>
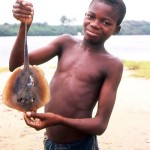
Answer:
<svg viewBox="0 0 150 150"><path fill-rule="evenodd" d="M48 72L42 67L46 78ZM23 114L2 103L10 73L0 73L0 150L42 150L45 130L28 127ZM150 80L133 78L124 70L107 130L98 136L101 150L150 150ZM43 112L43 108L38 110Z"/></svg>

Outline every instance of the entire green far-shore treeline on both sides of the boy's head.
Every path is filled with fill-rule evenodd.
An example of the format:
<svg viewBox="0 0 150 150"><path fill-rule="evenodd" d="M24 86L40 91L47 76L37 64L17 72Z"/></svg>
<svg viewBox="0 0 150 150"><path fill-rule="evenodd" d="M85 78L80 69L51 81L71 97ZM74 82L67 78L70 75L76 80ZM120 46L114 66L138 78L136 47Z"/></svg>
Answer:
<svg viewBox="0 0 150 150"><path fill-rule="evenodd" d="M64 33L77 35L83 33L81 25L71 25L75 19L62 16L61 25L48 25L47 23L33 23L29 36L56 36ZM150 35L150 22L124 21L119 35ZM4 23L0 25L0 36L16 36L19 24Z"/></svg>

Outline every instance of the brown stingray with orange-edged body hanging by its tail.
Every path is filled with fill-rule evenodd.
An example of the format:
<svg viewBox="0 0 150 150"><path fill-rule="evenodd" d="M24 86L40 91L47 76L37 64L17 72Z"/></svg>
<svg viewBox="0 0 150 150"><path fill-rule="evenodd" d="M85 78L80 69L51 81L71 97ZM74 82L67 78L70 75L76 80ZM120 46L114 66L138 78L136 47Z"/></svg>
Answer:
<svg viewBox="0 0 150 150"><path fill-rule="evenodd" d="M2 100L10 108L26 112L37 111L50 100L50 88L44 72L29 65L27 23L25 23L24 64L16 68L6 82Z"/></svg>

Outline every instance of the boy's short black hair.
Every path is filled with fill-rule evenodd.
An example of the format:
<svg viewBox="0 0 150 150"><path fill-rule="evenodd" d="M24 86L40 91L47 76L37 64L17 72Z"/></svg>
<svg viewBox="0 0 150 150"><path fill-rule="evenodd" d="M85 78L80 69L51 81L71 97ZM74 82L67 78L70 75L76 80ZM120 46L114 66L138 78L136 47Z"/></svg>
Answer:
<svg viewBox="0 0 150 150"><path fill-rule="evenodd" d="M92 2L90 3L90 6L95 2L104 3L115 8L117 16L118 16L117 24L118 25L121 24L126 14L126 5L122 0L92 0Z"/></svg>

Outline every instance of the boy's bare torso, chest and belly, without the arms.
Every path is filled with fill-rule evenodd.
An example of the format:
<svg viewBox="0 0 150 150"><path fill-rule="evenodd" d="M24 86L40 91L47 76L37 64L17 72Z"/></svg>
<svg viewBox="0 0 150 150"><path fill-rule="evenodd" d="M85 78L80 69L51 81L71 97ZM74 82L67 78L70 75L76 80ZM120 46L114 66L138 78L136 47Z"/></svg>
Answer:
<svg viewBox="0 0 150 150"><path fill-rule="evenodd" d="M86 50L80 41L73 45L71 48L68 46L59 57L58 67L50 84L51 100L45 111L69 118L91 118L105 79L109 54ZM46 132L57 143L71 142L87 136L63 125L50 126Z"/></svg>

